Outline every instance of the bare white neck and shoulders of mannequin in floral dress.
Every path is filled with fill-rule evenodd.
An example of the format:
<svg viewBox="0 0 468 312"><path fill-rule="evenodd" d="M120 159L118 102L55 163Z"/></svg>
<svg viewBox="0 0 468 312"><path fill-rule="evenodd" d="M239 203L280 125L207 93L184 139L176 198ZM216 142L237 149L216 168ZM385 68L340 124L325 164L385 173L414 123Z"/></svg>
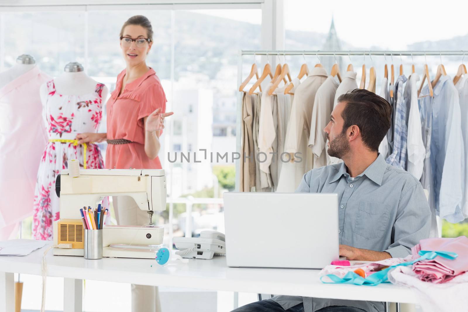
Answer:
<svg viewBox="0 0 468 312"><path fill-rule="evenodd" d="M72 62L65 66L65 73L54 79L57 92L62 95L83 95L92 92L98 82L89 77L80 63ZM47 97L47 86L43 85L40 90L41 100L44 103ZM109 90L102 89L102 98L106 99Z"/></svg>

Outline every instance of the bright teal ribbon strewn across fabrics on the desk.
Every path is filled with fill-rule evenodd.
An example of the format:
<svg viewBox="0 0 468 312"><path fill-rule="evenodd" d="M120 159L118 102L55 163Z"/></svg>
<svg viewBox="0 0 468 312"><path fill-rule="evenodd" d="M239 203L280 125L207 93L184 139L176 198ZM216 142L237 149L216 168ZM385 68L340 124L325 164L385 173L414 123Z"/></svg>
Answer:
<svg viewBox="0 0 468 312"><path fill-rule="evenodd" d="M419 258L413 261L409 262L403 262L399 264L392 265L388 268L385 268L381 271L375 272L372 275L367 276L366 278L359 276L358 274L354 272L348 272L346 275L341 278L333 274L328 274L324 276L320 276L320 280L322 283L325 284L354 284L354 285L366 285L366 286L376 286L379 285L380 283L389 283L388 281L388 271L390 271L393 268L399 267L399 266L410 266L414 264L417 261L424 261L424 260L432 260L437 256L440 256L442 258L454 260L458 257L458 254L450 252L450 251L429 251L429 250L421 250L418 253L420 255ZM332 282L324 282L323 278L328 277Z"/></svg>

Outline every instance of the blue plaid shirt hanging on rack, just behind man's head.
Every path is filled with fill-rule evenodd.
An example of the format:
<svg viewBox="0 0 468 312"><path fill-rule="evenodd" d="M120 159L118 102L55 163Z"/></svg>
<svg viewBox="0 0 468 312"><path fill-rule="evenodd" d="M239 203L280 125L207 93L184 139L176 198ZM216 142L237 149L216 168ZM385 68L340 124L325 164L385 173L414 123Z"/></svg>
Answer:
<svg viewBox="0 0 468 312"><path fill-rule="evenodd" d="M406 124L406 105L403 99L403 83L406 77L401 75L395 83L395 124L393 135L393 152L388 156L387 163L405 170L406 168L406 149L408 138L408 126Z"/></svg>

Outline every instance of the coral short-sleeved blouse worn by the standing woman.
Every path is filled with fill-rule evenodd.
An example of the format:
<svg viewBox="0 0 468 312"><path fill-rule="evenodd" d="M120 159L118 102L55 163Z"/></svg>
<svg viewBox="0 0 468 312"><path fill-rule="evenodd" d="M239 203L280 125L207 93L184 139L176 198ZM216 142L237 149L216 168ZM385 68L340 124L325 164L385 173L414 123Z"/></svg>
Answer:
<svg viewBox="0 0 468 312"><path fill-rule="evenodd" d="M123 70L117 76L116 88L107 102L107 139L124 138L132 143L108 144L105 167L161 169L159 157L151 160L146 156L143 118L158 108L166 111L166 94L151 68L139 79L128 83L122 94L118 95L125 72Z"/></svg>

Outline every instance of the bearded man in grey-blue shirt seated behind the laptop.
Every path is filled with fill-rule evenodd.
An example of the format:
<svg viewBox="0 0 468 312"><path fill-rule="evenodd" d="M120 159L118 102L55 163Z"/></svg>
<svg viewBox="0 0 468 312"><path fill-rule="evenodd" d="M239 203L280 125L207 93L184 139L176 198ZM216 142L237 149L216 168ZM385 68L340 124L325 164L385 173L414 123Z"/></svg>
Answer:
<svg viewBox="0 0 468 312"><path fill-rule="evenodd" d="M296 190L338 194L339 251L348 260L404 258L420 239L429 237L431 211L421 183L388 165L378 153L391 114L390 104L370 91L355 89L341 95L324 131L329 155L344 162L310 170ZM383 312L384 305L276 296L235 310L266 311Z"/></svg>

